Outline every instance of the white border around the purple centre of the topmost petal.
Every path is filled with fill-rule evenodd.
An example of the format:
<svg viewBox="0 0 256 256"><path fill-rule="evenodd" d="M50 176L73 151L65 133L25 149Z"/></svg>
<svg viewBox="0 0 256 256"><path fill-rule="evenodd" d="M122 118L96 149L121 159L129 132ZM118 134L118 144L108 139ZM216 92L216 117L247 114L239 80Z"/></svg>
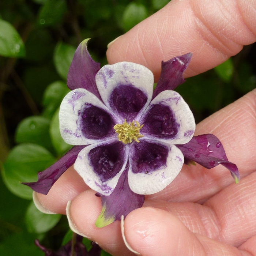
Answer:
<svg viewBox="0 0 256 256"><path fill-rule="evenodd" d="M120 86L133 86L141 90L147 97L147 102L140 110L142 113L151 101L154 86L153 73L140 64L131 62L120 62L113 65L105 65L97 73L96 84L105 105L116 111L111 105L111 94L113 90Z"/></svg>

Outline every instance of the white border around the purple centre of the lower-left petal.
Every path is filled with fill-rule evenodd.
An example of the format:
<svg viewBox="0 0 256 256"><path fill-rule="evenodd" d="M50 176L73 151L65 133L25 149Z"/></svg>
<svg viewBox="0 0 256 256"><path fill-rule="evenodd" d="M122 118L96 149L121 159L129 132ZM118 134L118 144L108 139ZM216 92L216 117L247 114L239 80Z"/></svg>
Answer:
<svg viewBox="0 0 256 256"><path fill-rule="evenodd" d="M116 142L116 140L110 140L108 143ZM118 142L119 143L119 142ZM108 145L109 145L108 144ZM102 181L99 175L94 171L93 164L90 161L89 153L92 149L108 146L104 143L95 143L85 147L80 151L74 164L74 169L83 178L84 182L93 190L101 193L102 195L109 196L117 185L118 179L123 173L128 160L128 154L124 150L123 165L120 171L113 178ZM121 153L120 153L121 154Z"/></svg>

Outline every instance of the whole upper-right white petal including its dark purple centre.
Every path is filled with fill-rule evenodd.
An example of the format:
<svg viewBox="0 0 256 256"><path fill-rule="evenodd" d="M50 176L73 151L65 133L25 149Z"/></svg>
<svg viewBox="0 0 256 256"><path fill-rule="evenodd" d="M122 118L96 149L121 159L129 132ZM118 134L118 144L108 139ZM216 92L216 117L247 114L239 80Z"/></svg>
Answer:
<svg viewBox="0 0 256 256"><path fill-rule="evenodd" d="M141 139L154 139L170 144L184 144L191 140L196 124L188 104L176 91L163 91L151 101L143 119Z"/></svg>

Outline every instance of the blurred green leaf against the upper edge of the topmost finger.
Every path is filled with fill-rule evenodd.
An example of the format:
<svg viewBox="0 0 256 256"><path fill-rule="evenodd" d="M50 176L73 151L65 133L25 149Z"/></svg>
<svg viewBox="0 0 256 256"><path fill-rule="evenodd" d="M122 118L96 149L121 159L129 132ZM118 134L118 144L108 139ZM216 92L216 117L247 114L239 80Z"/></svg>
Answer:
<svg viewBox="0 0 256 256"><path fill-rule="evenodd" d="M142 20L148 17L147 8L143 4L130 3L125 8L123 14L123 29L124 31L130 30Z"/></svg>

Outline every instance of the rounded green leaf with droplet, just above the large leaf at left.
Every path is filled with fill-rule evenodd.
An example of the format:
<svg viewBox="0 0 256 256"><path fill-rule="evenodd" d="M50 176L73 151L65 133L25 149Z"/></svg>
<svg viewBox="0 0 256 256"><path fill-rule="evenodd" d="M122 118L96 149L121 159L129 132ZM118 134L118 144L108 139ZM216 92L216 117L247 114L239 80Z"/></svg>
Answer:
<svg viewBox="0 0 256 256"><path fill-rule="evenodd" d="M16 143L34 143L52 151L50 120L42 116L23 119L16 130Z"/></svg>

